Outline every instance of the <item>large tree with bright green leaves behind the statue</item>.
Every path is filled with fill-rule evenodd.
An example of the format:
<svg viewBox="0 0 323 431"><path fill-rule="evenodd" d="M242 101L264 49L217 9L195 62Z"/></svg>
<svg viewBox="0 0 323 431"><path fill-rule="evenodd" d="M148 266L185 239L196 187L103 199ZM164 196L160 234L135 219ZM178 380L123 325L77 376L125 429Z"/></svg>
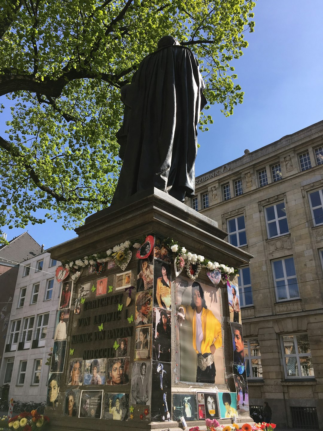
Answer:
<svg viewBox="0 0 323 431"><path fill-rule="evenodd" d="M74 226L109 204L121 166L120 88L163 35L193 50L209 103L226 116L242 103L231 62L254 28L251 0L3 3L0 96L12 101L12 120L0 137L0 226L43 223L39 208ZM204 113L200 128L211 122Z"/></svg>

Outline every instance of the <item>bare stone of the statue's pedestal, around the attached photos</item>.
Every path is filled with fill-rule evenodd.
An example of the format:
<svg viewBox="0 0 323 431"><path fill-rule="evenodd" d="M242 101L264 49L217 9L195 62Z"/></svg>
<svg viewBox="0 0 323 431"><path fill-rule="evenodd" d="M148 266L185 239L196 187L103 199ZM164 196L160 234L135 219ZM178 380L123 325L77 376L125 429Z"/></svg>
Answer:
<svg viewBox="0 0 323 431"><path fill-rule="evenodd" d="M75 231L78 233L78 238L59 244L49 250L53 259L60 260L61 262L75 262L76 259L83 259L84 256L108 250L126 240L134 241L140 237L144 238L146 235L153 235L162 239L172 238L177 241L181 247L185 247L192 253L205 256L213 262L224 263L234 268L248 264L249 259L252 257L248 253L224 241L227 233L218 228L217 222L208 219L199 212L194 211L158 189L153 189L150 192L132 197L126 206L113 206L112 208L107 208L91 215L86 219L85 224L75 229ZM141 357L142 359L137 357L137 360L134 360L135 355L139 354L137 351L139 332L136 331L135 317L137 309L136 300L138 298L138 292L136 291L137 274L139 272L138 261L140 261L140 259L136 257L137 250L131 248L131 251L132 258L124 271L117 265L114 268L108 269L108 262L106 263L106 269L100 274L89 273L89 267L86 266L73 285L71 312L67 331L65 365L60 375L61 383L58 404L56 408L47 407L45 412L45 414L50 416L52 429L56 431L67 429L88 430L92 427L97 430L118 429L119 427L123 428L125 425L127 428L130 427L133 429L182 428L178 420L171 420L166 423L161 422L163 416L162 411L159 416L158 414L156 415L155 406L153 405L153 403L158 402L156 401L158 397L154 397L155 391L158 389L160 390L160 388L158 388L158 381L156 384L156 380L154 380L154 373L156 378L158 363L164 363L162 359L160 359L161 357L158 359L158 353L156 353L155 337L157 322L155 320L149 322L147 325L147 327L150 327L147 334L147 336L150 337L150 346L148 349L150 353L147 353L149 357ZM158 259L155 259L155 262L157 260ZM152 258L152 265L153 262L154 259ZM160 260L158 260L158 262L158 265L162 267L162 262ZM156 265L157 264L155 264L155 267L158 266ZM190 290L188 291L186 289L186 286L191 286L192 282L186 276L187 283L185 284L184 270L180 275L183 282L176 284L174 282L174 264L171 263L169 268L171 268L171 278L173 281L171 287L171 311L168 311L171 320L171 363L167 366L165 365L165 370L167 369L167 377L169 380L167 389L168 411L172 419L175 417L174 415L179 414L179 412L176 412L176 406L172 406L174 394L191 394L196 400L197 392L205 394L214 392L214 390L217 389L220 392L227 392L230 390L234 393L236 387L232 372L233 347L226 286L220 282L219 286L222 286L222 288L212 287L212 283L206 275L205 268L201 270L199 276L196 278L196 281L200 284L208 286L205 292L207 292L207 297L211 301L211 304L219 300L217 307L219 310L218 320L221 322L222 345L217 349L214 358L217 358L217 364L223 363L223 369L221 369L222 366L220 367L220 365L217 365L215 384L196 383L195 374L192 375L191 373L189 375L191 379L186 375L187 372L189 373L187 370L190 369L195 370L194 373L196 373L197 359L196 352L193 350L192 346L192 323L190 323L190 325L187 323L189 311L192 315L193 312L191 309L189 310L189 305L187 305L186 308L188 312L183 326L177 323L176 313L176 309L178 311L180 305L177 303L179 298L181 301L186 298L186 303L189 304L191 293ZM128 306L126 306L128 291L125 292L124 288L118 289L118 287L122 286L122 282L121 286L118 285L120 284L120 279L122 279L122 277L120 278L120 274L123 272L130 272L130 284L134 287L131 293L131 302ZM118 281L117 276L119 277ZM97 296L95 290L97 286L96 282L104 278L107 278L107 293ZM66 280L68 279L71 280L70 277ZM127 283L128 282L129 280L127 280ZM90 294L85 297L85 301L80 304L80 314L76 315L73 313L75 300L80 296L81 286L89 284L91 287ZM154 313L159 313L157 315L158 317L160 316L162 320L162 315L160 314L161 310L158 309L158 306L156 307L154 305L155 308L152 309L154 298L156 300L155 289L156 274L151 294L150 313L151 316L153 316ZM187 297L189 298L188 302ZM187 331L187 334L185 334L185 331ZM180 338L183 340L185 337L187 342L185 344L180 344ZM124 374L127 374L126 384L120 386L115 386L113 384L82 384L78 387L72 387L68 384L70 380L71 361L76 361L77 359L83 361L83 378L84 374L89 374L89 369L84 369L84 366L87 366L86 361L107 358L107 368L104 378L106 382L111 381L109 379L111 377L109 372L109 359L118 357L120 347L118 348L117 345L120 345L120 340L123 338L127 338L127 353L125 356L130 358L127 364L123 364L125 367ZM135 353L135 350L137 353ZM157 350L159 350L158 347ZM155 355L155 357L153 357L153 355ZM134 367L137 366L139 369L138 359L147 364L151 364L150 368L148 366L147 371L149 372L149 385L152 381L153 387L149 394L149 404L147 403L146 405L131 403L131 377L133 377L132 371ZM184 361L186 362L185 369L183 367L181 368L181 364L179 364L180 361L183 363ZM193 365L189 364L190 361L192 361ZM135 365L136 362L137 365ZM91 375L93 375L92 369ZM185 379L184 381L182 381L183 378ZM129 384L127 384L128 381ZM127 424L125 424L123 420L70 418L65 416L66 394L70 389L80 391L103 390L103 403L104 397L106 396L109 398L111 394L125 394L122 402L124 402L125 399L128 400L127 397L130 397L129 406L133 408L131 407L130 411L127 412ZM170 392L172 396L170 396ZM78 392L78 394L80 394L80 392ZM171 400L170 403L169 400ZM109 410L109 401L105 407L105 411L107 411L107 409ZM102 415L103 414L104 412L102 411ZM118 411L114 414L111 413L111 415L115 416L117 416L117 414ZM166 412L165 419L167 419ZM251 419L245 416L242 420L243 422L248 422L248 420L250 421ZM222 419L219 422L231 423L232 421L231 419ZM239 419L237 419L237 422L240 422ZM188 428L196 425L205 425L205 420L187 422Z"/></svg>

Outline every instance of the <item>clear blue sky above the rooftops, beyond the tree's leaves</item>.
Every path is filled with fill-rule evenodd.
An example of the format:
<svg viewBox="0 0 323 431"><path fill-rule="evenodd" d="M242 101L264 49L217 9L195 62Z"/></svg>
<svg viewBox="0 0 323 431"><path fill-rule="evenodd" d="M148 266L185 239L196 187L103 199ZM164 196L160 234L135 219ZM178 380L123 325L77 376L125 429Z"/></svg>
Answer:
<svg viewBox="0 0 323 431"><path fill-rule="evenodd" d="M199 133L196 175L323 119L322 0L258 0L254 12L255 32L235 64L244 101L228 118L217 105L208 111L214 124ZM77 236L53 221L3 230L8 240L28 230L45 248Z"/></svg>

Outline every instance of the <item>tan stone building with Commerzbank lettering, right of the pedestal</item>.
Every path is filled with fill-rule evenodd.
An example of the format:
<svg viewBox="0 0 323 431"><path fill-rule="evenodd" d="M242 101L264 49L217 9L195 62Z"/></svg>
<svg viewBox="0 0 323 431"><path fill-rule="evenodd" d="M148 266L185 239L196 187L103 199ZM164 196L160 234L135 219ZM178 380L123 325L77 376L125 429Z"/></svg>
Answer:
<svg viewBox="0 0 323 431"><path fill-rule="evenodd" d="M323 121L197 177L186 202L255 256L239 270L249 403L280 427L323 423L322 168Z"/></svg>

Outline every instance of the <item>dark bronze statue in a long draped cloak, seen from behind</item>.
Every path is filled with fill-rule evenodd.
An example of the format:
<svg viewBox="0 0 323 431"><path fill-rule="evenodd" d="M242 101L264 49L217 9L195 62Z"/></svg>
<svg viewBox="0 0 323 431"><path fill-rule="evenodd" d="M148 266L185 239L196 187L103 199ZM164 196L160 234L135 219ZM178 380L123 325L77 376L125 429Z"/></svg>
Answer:
<svg viewBox="0 0 323 431"><path fill-rule="evenodd" d="M162 37L121 89L125 109L117 139L123 165L112 204L151 187L182 202L194 196L204 88L192 51L174 37Z"/></svg>

